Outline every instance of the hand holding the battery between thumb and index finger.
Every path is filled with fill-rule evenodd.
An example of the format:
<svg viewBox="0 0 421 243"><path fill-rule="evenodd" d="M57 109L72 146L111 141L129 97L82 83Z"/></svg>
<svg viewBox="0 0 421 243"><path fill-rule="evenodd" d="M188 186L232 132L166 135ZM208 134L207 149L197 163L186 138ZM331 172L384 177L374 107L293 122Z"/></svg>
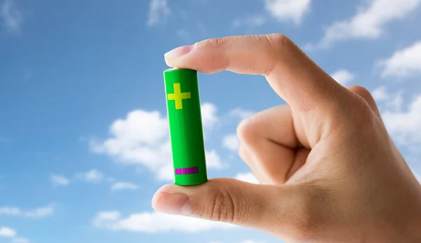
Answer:
<svg viewBox="0 0 421 243"><path fill-rule="evenodd" d="M168 66L265 76L286 105L243 120L239 155L260 184L160 188L152 207L254 228L286 242L421 242L421 186L370 92L345 88L282 34L208 39Z"/></svg>

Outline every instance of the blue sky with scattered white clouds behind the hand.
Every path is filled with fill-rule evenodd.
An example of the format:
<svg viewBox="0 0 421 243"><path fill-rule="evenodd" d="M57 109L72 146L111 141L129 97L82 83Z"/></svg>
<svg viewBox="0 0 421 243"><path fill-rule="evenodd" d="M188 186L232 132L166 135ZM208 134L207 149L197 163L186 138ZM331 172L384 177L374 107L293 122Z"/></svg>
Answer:
<svg viewBox="0 0 421 243"><path fill-rule="evenodd" d="M212 37L286 34L373 91L421 174L421 0L239 2L0 0L0 243L279 242L151 207L172 181L163 54ZM253 182L236 125L283 101L260 76L199 79L209 176Z"/></svg>

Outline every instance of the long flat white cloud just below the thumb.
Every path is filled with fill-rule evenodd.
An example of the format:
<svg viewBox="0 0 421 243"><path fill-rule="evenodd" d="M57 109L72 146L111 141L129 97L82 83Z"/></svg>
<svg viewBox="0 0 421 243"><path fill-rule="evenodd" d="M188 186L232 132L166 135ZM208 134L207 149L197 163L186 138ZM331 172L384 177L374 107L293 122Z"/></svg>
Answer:
<svg viewBox="0 0 421 243"><path fill-rule="evenodd" d="M131 214L127 218L122 218L118 211L103 211L93 218L93 225L98 228L105 228L114 231L133 232L202 232L205 230L227 229L235 226L206 221L199 218L187 216L176 216L161 214L158 212L143 212Z"/></svg>

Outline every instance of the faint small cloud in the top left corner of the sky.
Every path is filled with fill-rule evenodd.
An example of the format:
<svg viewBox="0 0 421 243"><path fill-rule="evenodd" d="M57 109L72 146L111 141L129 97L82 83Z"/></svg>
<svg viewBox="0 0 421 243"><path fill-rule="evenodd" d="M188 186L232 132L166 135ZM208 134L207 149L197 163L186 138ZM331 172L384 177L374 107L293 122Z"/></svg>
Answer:
<svg viewBox="0 0 421 243"><path fill-rule="evenodd" d="M14 0L5 0L0 5L0 19L10 32L19 32L20 25L22 25L22 13L16 8Z"/></svg>

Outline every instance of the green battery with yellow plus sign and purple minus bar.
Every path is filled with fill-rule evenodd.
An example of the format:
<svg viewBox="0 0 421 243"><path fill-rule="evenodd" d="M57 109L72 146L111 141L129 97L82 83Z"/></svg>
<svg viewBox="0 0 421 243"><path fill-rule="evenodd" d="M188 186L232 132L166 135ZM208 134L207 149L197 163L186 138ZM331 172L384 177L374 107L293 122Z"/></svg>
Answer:
<svg viewBox="0 0 421 243"><path fill-rule="evenodd" d="M205 183L208 175L197 71L168 69L163 72L163 77L175 184Z"/></svg>

